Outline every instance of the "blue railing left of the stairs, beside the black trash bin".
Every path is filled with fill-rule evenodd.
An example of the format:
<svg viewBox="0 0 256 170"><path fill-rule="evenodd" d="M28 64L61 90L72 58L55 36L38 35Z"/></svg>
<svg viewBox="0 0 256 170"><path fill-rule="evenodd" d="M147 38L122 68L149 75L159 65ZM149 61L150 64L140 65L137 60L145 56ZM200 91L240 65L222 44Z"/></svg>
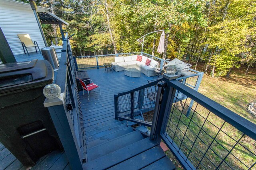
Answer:
<svg viewBox="0 0 256 170"><path fill-rule="evenodd" d="M72 169L83 169L82 162L86 160L84 123L68 33L63 41L59 64L54 83L60 86L62 94L57 101L46 100L44 104L48 106Z"/></svg>

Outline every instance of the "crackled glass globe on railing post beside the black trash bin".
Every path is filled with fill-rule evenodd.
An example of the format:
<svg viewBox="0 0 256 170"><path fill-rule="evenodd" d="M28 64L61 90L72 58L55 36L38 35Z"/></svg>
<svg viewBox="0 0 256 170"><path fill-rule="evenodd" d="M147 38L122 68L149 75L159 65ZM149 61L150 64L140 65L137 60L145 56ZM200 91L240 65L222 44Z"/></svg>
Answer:
<svg viewBox="0 0 256 170"><path fill-rule="evenodd" d="M61 89L57 84L48 84L43 89L43 94L48 99L55 99L60 96Z"/></svg>

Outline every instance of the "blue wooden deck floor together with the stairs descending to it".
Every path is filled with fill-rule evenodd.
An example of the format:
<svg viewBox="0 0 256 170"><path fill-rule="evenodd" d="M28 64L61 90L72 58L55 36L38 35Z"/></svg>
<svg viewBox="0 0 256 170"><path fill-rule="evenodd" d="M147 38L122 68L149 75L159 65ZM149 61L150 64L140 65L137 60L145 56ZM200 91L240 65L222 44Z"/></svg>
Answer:
<svg viewBox="0 0 256 170"><path fill-rule="evenodd" d="M100 85L90 92L80 92L80 102L86 135L87 162L84 169L175 169L156 141L131 127L127 121L114 119L114 94L132 90L154 77L132 78L122 72L88 70L88 76Z"/></svg>

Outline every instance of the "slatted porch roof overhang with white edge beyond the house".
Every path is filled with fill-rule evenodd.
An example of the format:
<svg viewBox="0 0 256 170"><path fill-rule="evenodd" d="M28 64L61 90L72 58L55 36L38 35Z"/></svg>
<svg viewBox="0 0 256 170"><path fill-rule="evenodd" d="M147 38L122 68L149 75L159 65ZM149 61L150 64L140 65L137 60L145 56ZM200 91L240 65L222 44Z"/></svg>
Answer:
<svg viewBox="0 0 256 170"><path fill-rule="evenodd" d="M58 18L56 15L50 13L49 11L44 12L37 12L40 22L41 23L48 23L48 24L59 24L63 23L65 25L68 25L68 23L60 18Z"/></svg>

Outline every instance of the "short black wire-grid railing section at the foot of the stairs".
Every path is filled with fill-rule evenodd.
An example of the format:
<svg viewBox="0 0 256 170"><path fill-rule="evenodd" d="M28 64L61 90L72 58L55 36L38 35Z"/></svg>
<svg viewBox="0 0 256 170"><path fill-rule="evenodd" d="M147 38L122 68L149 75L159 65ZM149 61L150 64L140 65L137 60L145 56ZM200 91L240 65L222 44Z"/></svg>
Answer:
<svg viewBox="0 0 256 170"><path fill-rule="evenodd" d="M125 93L115 94L116 119L129 120L151 127L159 80Z"/></svg>

